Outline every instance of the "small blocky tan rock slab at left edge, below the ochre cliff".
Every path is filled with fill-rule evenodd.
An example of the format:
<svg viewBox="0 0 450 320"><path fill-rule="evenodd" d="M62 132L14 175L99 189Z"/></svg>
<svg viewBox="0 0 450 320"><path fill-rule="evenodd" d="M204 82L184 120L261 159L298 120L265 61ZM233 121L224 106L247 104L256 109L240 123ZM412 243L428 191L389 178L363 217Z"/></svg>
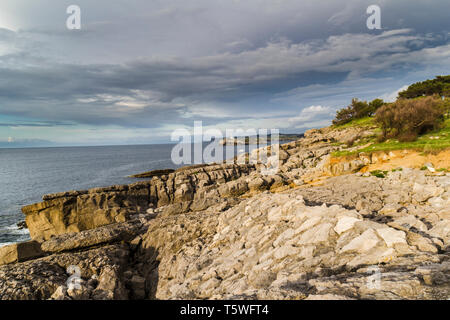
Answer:
<svg viewBox="0 0 450 320"><path fill-rule="evenodd" d="M43 255L41 245L36 241L11 244L0 248L0 265L23 262Z"/></svg>

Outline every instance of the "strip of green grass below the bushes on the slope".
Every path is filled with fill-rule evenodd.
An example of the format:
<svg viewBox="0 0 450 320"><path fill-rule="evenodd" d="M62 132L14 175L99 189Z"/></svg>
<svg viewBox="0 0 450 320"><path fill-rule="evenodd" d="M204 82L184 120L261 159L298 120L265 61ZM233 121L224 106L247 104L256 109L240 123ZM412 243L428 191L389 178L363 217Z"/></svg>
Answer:
<svg viewBox="0 0 450 320"><path fill-rule="evenodd" d="M364 120L364 119L359 119ZM363 123L369 123L368 120L363 121ZM431 137L439 137L439 139L431 139ZM334 156L346 156L352 155L359 152L377 152L377 151L393 151L393 150L402 150L402 149L410 149L417 150L421 152L432 152L439 151L450 148L450 119L447 119L443 128L440 130L436 130L425 135L420 136L416 141L412 142L399 142L396 139L388 139L385 142L377 142L376 138L364 139L355 146L363 146L368 142L373 142L372 145L358 149L356 151L337 151L333 153Z"/></svg>

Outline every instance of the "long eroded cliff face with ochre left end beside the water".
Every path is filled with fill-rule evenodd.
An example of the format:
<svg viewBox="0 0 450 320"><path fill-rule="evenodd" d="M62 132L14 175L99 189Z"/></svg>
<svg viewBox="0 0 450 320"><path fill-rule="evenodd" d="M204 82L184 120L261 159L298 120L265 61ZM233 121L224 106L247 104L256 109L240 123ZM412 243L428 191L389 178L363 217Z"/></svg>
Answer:
<svg viewBox="0 0 450 320"><path fill-rule="evenodd" d="M178 171L131 185L46 195L43 202L22 208L31 238L80 232L145 213L151 206L190 201L206 187L254 171L251 165L216 165Z"/></svg>

